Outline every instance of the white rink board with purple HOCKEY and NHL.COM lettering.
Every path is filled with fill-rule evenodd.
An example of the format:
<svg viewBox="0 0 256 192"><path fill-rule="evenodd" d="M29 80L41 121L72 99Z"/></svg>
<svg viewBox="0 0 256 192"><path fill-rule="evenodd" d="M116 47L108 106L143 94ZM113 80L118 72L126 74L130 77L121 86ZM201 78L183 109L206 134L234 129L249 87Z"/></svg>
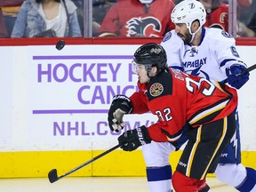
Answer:
<svg viewBox="0 0 256 192"><path fill-rule="evenodd" d="M140 45L53 45L0 47L0 151L107 149L107 113L117 93L136 91L132 54ZM255 46L238 47L256 62ZM252 52L252 53L250 53ZM239 90L242 150L256 150L256 72ZM124 116L126 129L153 124L156 116Z"/></svg>

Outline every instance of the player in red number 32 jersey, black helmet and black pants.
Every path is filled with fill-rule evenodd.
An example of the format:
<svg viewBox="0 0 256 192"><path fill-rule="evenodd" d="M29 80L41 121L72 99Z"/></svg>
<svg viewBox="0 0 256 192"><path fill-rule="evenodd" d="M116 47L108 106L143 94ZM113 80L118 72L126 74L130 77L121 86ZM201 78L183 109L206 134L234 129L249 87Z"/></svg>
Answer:
<svg viewBox="0 0 256 192"><path fill-rule="evenodd" d="M176 192L208 191L206 174L214 172L222 149L236 131L236 90L167 68L166 61L161 45L140 46L134 53L139 92L130 98L114 97L108 111L108 124L112 131L118 132L122 129L124 114L150 111L158 117L156 124L140 126L118 137L125 151L135 150L152 140L171 142L175 146L183 134L188 135L188 144L173 173L173 188Z"/></svg>

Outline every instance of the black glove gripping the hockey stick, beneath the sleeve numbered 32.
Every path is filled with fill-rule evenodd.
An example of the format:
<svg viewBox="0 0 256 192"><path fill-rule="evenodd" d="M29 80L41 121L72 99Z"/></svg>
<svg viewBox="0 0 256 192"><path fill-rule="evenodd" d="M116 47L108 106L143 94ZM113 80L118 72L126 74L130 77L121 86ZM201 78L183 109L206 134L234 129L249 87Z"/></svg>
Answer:
<svg viewBox="0 0 256 192"><path fill-rule="evenodd" d="M147 128L143 125L134 130L124 132L118 137L124 151L132 151L151 142Z"/></svg>

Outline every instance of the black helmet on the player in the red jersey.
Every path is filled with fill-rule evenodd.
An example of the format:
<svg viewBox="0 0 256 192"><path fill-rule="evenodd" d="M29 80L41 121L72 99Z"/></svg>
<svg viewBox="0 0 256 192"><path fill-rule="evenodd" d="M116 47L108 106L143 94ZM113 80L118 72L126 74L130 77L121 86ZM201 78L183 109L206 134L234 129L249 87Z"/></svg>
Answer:
<svg viewBox="0 0 256 192"><path fill-rule="evenodd" d="M133 55L133 61L137 64L144 65L148 72L153 67L158 71L166 68L166 52L160 44L149 43L141 45Z"/></svg>

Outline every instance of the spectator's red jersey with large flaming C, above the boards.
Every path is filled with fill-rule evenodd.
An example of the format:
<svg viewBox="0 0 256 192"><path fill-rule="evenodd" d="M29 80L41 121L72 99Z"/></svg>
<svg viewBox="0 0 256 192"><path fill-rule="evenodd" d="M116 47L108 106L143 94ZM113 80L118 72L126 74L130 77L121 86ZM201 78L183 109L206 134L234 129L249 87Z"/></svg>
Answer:
<svg viewBox="0 0 256 192"><path fill-rule="evenodd" d="M100 26L100 36L163 37L175 28L170 17L172 0L155 0L141 4L138 0L122 0L112 5Z"/></svg>

